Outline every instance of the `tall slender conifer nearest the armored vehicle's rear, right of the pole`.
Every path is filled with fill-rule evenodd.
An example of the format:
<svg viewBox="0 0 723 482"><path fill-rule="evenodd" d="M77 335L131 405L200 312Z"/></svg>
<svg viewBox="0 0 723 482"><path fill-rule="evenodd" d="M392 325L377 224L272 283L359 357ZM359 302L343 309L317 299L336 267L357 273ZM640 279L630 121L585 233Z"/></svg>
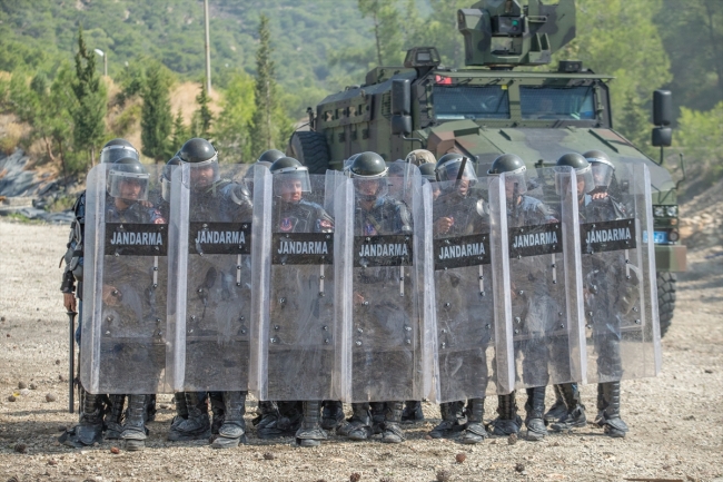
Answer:
<svg viewBox="0 0 723 482"><path fill-rule="evenodd" d="M258 36L259 47L256 51L256 85L254 88L256 109L249 126L252 156L258 156L274 146L273 117L277 106L274 61L271 61L271 31L268 18L264 14L258 28Z"/></svg>

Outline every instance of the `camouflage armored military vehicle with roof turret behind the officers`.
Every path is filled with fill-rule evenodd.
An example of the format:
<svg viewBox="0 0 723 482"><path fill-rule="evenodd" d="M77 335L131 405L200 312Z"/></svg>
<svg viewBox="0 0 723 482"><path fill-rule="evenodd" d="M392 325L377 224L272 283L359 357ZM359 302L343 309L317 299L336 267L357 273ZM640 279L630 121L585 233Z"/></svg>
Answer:
<svg viewBox="0 0 723 482"><path fill-rule="evenodd" d="M651 173L661 331L675 305L675 272L685 269L679 244L676 184L661 166L670 146L671 96L654 95L655 163L613 128L608 82L580 61L555 71L524 67L551 62L575 37L574 0L483 0L457 11L465 69L440 66L434 47L407 52L404 66L379 66L361 86L348 87L309 108L309 130L294 132L287 154L313 173L341 169L353 154L374 150L387 161L425 148L437 158L456 151L486 173L502 153L528 168L551 166L568 151L605 151L614 164L644 163Z"/></svg>

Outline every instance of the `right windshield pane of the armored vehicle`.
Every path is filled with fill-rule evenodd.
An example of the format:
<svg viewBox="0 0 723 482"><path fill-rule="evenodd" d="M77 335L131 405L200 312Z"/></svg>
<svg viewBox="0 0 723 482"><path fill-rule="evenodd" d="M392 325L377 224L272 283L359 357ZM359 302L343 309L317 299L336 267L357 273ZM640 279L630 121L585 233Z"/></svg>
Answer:
<svg viewBox="0 0 723 482"><path fill-rule="evenodd" d="M523 119L584 120L595 118L593 86L521 87Z"/></svg>

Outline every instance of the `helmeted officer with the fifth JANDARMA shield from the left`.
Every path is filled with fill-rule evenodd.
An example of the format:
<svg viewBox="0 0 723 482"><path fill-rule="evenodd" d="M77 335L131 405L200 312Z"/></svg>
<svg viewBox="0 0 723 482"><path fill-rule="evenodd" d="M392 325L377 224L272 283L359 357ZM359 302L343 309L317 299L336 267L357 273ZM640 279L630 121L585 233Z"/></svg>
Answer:
<svg viewBox="0 0 723 482"><path fill-rule="evenodd" d="M477 176L469 158L446 154L435 170L442 191L433 204L436 391L438 400L459 396L468 400L468 406L464 424L464 400L443 402L442 423L429 435L439 439L464 430L460 442L474 444L488 435L483 415L489 374L486 353L494 332L493 296L485 289L492 281L489 216L473 193Z"/></svg>

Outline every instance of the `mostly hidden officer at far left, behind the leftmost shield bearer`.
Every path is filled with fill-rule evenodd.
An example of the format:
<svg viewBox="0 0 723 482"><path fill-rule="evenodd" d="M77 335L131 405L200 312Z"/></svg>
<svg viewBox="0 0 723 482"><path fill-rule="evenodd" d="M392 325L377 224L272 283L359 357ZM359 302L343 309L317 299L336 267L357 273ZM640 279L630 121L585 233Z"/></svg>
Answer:
<svg viewBox="0 0 723 482"><path fill-rule="evenodd" d="M139 160L138 150L126 139L117 138L109 140L100 150L101 164L112 164L123 157ZM85 190L78 195L72 212L75 219L70 224L70 237L66 246L68 250L63 256L66 268L62 274L60 291L63 294L63 306L66 311L79 311L79 323L76 331L76 342L79 344L81 334L80 319L82 319L83 235L86 223ZM76 302L76 297L79 303ZM109 410L105 406L106 400L110 402ZM93 395L82 390L80 423L69 433L63 434L60 441L70 446L92 445L92 443L102 439L103 425L106 439L119 439L122 430L120 423L123 403L123 395L110 395L109 399L106 399L103 395ZM103 414L107 411L109 413L105 416L103 423Z"/></svg>

